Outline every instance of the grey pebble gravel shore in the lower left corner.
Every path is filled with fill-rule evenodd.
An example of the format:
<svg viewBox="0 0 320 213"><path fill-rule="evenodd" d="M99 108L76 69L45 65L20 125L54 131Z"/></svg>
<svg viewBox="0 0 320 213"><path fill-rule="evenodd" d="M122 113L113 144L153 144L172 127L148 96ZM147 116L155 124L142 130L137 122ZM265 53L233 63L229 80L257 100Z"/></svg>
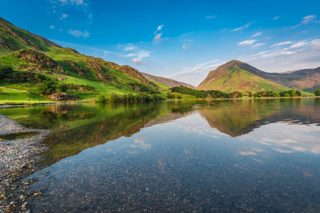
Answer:
<svg viewBox="0 0 320 213"><path fill-rule="evenodd" d="M22 195L28 187L27 181L20 181L35 171L38 155L48 148L41 144L51 130L26 128L0 114L0 138L12 133L38 132L39 135L18 140L0 141L0 212L30 212Z"/></svg>

